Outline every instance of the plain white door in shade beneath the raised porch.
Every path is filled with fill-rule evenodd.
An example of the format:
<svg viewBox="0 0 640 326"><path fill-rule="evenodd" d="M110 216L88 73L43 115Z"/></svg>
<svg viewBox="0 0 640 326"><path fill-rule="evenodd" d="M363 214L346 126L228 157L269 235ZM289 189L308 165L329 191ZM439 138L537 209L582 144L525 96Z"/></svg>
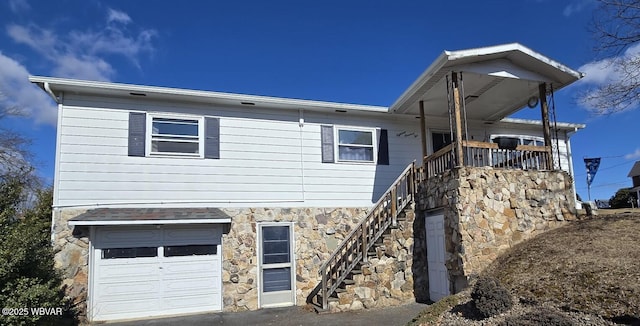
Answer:
<svg viewBox="0 0 640 326"><path fill-rule="evenodd" d="M445 265L444 215L425 217L427 229L427 263L429 268L429 297L438 301L449 295L449 273Z"/></svg>

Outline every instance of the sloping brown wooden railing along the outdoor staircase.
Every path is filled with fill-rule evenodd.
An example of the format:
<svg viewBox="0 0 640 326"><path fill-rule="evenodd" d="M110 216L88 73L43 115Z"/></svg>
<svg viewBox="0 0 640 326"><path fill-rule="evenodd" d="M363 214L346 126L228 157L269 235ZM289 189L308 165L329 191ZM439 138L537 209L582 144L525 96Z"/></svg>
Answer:
<svg viewBox="0 0 640 326"><path fill-rule="evenodd" d="M416 173L420 173L415 162L409 164L391 184L369 214L345 237L329 259L320 266L322 276L318 294L322 298L322 309L328 308L329 297L345 281L361 262L367 262L367 252L390 227L397 225L398 215L409 205L416 193ZM317 300L317 296L316 296Z"/></svg>

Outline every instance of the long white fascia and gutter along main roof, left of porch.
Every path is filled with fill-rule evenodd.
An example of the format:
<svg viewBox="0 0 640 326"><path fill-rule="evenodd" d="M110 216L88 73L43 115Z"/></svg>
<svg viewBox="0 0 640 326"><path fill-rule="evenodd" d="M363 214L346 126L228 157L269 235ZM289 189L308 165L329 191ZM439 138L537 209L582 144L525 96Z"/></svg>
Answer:
<svg viewBox="0 0 640 326"><path fill-rule="evenodd" d="M282 105L285 108L291 107L296 110L321 110L327 109L333 110L352 110L363 112L376 112L387 113L389 108L384 106L374 105L362 105L362 104L349 104L338 102L324 102L314 100L293 99L284 97L271 97L261 95L247 95L236 93L222 93L212 91L199 91L181 88L159 87L159 86L143 86L133 84L122 83L110 83L100 81L78 80L78 79L66 79L55 77L43 77L43 76L29 76L29 81L36 84L48 83L52 89L66 89L66 90L78 90L92 89L96 93L100 93L100 90L105 91L122 91L129 93L143 93L143 94L160 94L160 95L173 95L173 96L185 96L192 97L200 100L224 100L224 101L237 101L240 102L252 102L259 107L260 103L269 105ZM57 86L57 87L56 87Z"/></svg>

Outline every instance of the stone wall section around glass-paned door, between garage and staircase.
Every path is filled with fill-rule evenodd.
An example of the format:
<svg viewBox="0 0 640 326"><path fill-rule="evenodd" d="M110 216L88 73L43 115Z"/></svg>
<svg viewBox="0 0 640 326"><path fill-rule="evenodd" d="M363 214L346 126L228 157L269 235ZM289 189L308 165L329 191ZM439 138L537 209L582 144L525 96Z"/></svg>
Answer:
<svg viewBox="0 0 640 326"><path fill-rule="evenodd" d="M222 236L222 296L225 311L258 309L257 223L294 222L296 301L306 304L320 282L320 265L329 258L369 208L223 209L232 217Z"/></svg>

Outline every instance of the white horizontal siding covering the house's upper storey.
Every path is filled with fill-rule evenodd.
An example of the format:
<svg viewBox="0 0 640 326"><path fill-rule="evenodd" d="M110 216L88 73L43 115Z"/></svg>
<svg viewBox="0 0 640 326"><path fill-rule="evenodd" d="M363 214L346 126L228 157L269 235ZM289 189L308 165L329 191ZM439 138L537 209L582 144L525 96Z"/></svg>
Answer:
<svg viewBox="0 0 640 326"><path fill-rule="evenodd" d="M132 111L218 118L220 159L128 156ZM60 115L54 205L63 207L369 207L407 164L416 160L419 165L422 155L418 119L389 114L305 111L300 123L295 110L68 94ZM343 126L371 130L375 146L375 131L386 129L389 165L322 163L322 126L333 126L334 132ZM445 125L437 130L443 127L446 129ZM520 132L539 136L537 128ZM374 148L374 156L377 150ZM566 155L566 147L561 150Z"/></svg>

